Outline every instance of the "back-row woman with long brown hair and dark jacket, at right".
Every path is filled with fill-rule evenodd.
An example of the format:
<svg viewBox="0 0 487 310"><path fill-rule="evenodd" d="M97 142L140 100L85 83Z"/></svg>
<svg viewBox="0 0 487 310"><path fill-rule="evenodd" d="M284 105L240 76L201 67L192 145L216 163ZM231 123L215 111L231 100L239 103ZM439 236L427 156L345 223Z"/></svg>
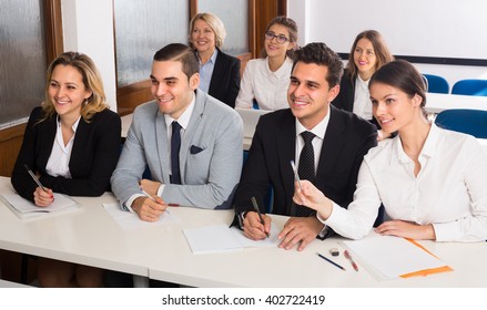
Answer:
<svg viewBox="0 0 487 310"><path fill-rule="evenodd" d="M393 60L394 56L379 32L365 30L358 33L352 44L348 63L339 85L339 93L332 104L338 108L353 112L381 128L372 115L368 82L374 72ZM379 140L383 138L382 134L379 131Z"/></svg>

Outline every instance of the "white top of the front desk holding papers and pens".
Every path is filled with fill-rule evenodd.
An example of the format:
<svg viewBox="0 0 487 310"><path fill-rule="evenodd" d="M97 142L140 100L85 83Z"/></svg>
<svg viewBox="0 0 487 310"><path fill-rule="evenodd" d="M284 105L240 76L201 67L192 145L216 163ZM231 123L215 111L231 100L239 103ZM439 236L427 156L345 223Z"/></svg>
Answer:
<svg viewBox="0 0 487 310"><path fill-rule="evenodd" d="M0 178L0 193L11 193L9 178ZM193 255L182 229L229 224L232 210L171 208L179 223L125 231L103 209L111 194L74 197L79 213L20 220L0 206L0 248L68 260L105 269L149 276L194 287L486 287L487 244L422 241L455 271L428 277L377 281L359 265L354 271L341 255L343 271L316 257L337 247L341 238L314 240L302 252L278 248ZM2 204L2 203L0 203ZM286 217L273 216L282 226Z"/></svg>

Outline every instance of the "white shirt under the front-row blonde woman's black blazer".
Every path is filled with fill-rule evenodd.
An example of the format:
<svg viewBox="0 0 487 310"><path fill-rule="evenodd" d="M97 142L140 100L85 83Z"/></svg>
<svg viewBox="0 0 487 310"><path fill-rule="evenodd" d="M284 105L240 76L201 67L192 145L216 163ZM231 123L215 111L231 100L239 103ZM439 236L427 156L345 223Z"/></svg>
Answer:
<svg viewBox="0 0 487 310"><path fill-rule="evenodd" d="M48 164L45 165L45 172L50 176L62 176L65 178L71 178L71 173L69 170L69 161L71 158L71 151L73 148L74 136L77 134L78 124L80 123L81 116L72 125L74 132L71 140L64 145L64 140L62 138L61 121L57 118L57 130L55 138L52 144L51 155L49 156Z"/></svg>

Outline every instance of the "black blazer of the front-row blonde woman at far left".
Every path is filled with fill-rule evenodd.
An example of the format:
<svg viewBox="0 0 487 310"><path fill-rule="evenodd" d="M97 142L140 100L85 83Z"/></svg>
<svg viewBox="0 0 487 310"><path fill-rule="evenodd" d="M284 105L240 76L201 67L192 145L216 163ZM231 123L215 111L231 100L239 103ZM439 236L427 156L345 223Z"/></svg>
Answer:
<svg viewBox="0 0 487 310"><path fill-rule="evenodd" d="M109 108L97 113L87 123L81 117L74 135L69 168L71 179L48 175L45 166L55 140L57 117L41 123L42 108L35 107L26 127L22 147L12 173L13 188L26 199L33 200L37 184L24 164L40 174L43 186L70 196L100 196L110 189L110 177L120 155L121 121Z"/></svg>

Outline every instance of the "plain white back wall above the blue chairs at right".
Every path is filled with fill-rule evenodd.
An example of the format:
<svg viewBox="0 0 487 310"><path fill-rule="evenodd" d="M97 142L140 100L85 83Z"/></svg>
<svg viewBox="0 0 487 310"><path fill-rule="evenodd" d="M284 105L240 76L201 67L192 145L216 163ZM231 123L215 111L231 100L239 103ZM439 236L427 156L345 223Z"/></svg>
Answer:
<svg viewBox="0 0 487 310"><path fill-rule="evenodd" d="M487 2L478 0L287 0L287 14L300 27L301 45L325 42L348 53L361 31L375 29L399 55L487 60ZM487 79L487 66L415 64L444 76L450 86L463 79Z"/></svg>

